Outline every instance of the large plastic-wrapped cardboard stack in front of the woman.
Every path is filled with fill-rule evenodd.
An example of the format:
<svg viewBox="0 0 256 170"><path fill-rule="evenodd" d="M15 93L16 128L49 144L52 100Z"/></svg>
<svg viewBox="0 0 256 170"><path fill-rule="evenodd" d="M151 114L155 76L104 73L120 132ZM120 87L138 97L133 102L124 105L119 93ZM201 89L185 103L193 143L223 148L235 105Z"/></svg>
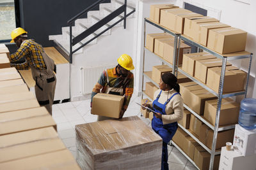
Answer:
<svg viewBox="0 0 256 170"><path fill-rule="evenodd" d="M76 125L76 141L82 169L161 169L163 141L138 117Z"/></svg>

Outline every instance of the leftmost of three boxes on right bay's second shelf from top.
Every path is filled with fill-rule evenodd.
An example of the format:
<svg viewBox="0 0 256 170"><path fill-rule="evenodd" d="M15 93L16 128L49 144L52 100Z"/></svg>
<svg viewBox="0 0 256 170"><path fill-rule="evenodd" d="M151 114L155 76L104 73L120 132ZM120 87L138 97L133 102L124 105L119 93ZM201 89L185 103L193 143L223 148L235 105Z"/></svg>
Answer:
<svg viewBox="0 0 256 170"><path fill-rule="evenodd" d="M207 52L183 54L182 70L191 76L195 76L196 60L205 59L216 59L216 57Z"/></svg>

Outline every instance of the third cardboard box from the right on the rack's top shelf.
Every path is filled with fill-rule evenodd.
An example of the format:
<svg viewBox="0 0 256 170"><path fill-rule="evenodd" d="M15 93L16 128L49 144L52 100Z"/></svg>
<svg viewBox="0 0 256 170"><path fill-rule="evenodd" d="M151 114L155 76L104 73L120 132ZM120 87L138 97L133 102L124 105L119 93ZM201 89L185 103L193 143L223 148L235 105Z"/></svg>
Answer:
<svg viewBox="0 0 256 170"><path fill-rule="evenodd" d="M189 36L190 38L193 38L193 31L195 31L195 25L199 23L211 23L219 21L216 18L207 17L207 16L200 16L200 17L190 17L185 18L184 20L184 32L183 34L186 36Z"/></svg>

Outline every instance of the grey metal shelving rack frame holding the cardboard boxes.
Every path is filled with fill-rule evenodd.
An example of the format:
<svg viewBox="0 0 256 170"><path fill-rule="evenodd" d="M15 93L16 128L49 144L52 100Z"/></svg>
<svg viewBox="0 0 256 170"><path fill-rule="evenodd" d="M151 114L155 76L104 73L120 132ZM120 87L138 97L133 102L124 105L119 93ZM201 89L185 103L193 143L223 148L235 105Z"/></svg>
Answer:
<svg viewBox="0 0 256 170"><path fill-rule="evenodd" d="M164 32L168 32L169 34L172 34L175 38L174 41L174 51L173 51L173 65L170 64L169 62L167 62L166 60L162 59L161 57L157 56L155 54L155 56L161 60L164 64L170 66L173 68L173 74L175 74L177 76L177 73L180 72L182 74L184 74L185 76L187 76L188 78L190 78L191 80L195 81L196 83L198 83L198 85L202 86L204 89L208 90L209 92L211 92L212 94L214 94L215 96L218 97L218 104L217 104L217 110L216 110L216 122L215 125L210 124L209 122L207 122L207 120L205 120L203 117L201 117L200 115L198 115L197 113L195 113L195 111L191 110L186 104L184 104L184 107L189 110L193 115L195 115L198 119L200 119L202 122L204 122L204 124L206 124L208 127L210 127L213 131L214 131L214 138L213 138L213 142L212 142L212 149L209 149L207 146L205 146L202 142L199 141L198 138L196 138L196 136L194 136L190 131L188 131L188 129L185 129L184 127L182 127L181 125L179 125L179 127L184 130L185 132L187 132L189 134L189 136L191 136L193 139L195 139L195 141L197 141L203 148L205 148L205 150L207 150L207 152L209 152L211 154L211 160L210 160L210 166L209 169L213 168L213 163L214 163L214 155L218 155L220 154L220 150L216 151L216 141L217 141L217 135L218 132L220 131L225 131L228 129L234 129L235 125L227 125L227 126L223 126L223 127L219 127L219 120L220 120L220 108L221 108L221 100L222 98L225 97L232 97L232 96L239 96L239 95L244 95L244 97L246 97L247 94L247 89L248 89L248 80L249 80L249 76L250 76L250 69L251 69L251 64L252 64L252 53L249 52L237 52L237 53L230 53L227 55L221 55L220 53L216 53L212 50L210 50L209 48L200 45L198 43L195 43L193 40L189 39L188 37L182 35L182 34L178 34L177 32L174 31L170 31L169 29L166 29L165 27L157 24L156 22L153 22L152 20L149 20L148 18L144 18L144 50L143 50L143 76L142 76L142 90L143 90L143 81L144 81L144 76L146 78L148 78L148 80L150 80L152 83L154 83L156 86L157 83L154 82L150 76L148 76L148 74L145 72L144 73L144 64L145 64L145 49L148 50L145 47L145 36L146 36L146 22L148 24L154 25L155 27L163 30ZM191 43L191 45L196 46L198 49L202 49L205 52L211 53L212 55L218 57L219 59L222 59L222 67L221 67L221 78L220 78L220 86L219 86L219 92L216 93L214 92L214 90L210 89L209 87L207 87L207 85L205 85L204 83L196 80L196 78L194 78L193 76L190 76L188 73L182 71L182 69L179 68L177 60L179 60L179 55L177 55L177 53L179 53L179 46L180 46L180 39L182 39L183 41L186 41L188 43ZM178 49L178 50L177 50ZM149 51L149 50L148 50ZM248 74L247 74L247 78L246 78L246 89L242 92L234 92L234 93L228 93L228 94L223 94L223 85L224 85L224 77L225 77L225 70L226 70L226 64L227 64L227 60L237 60L237 59L246 59L249 58L250 62L249 62L249 68L248 68ZM142 97L143 96L147 96L149 99L150 97L145 94L145 92L142 93ZM151 99L152 100L152 99ZM172 141L173 143L173 141ZM177 146L175 143L173 143L173 145L180 150L180 152L185 155L185 157L188 158L188 160L195 165L195 162L193 162L193 160L191 160L188 155L186 155L186 153L184 153L179 146ZM196 168L198 168L195 165Z"/></svg>

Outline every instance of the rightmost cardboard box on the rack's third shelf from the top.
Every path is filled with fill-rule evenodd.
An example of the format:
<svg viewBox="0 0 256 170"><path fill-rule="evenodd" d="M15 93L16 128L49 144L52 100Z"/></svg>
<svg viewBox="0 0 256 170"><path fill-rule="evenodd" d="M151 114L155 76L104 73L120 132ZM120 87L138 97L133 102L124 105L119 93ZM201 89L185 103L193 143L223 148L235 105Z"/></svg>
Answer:
<svg viewBox="0 0 256 170"><path fill-rule="evenodd" d="M215 125L218 99L205 101L204 118ZM221 100L219 125L236 124L239 117L240 104L230 98Z"/></svg>

